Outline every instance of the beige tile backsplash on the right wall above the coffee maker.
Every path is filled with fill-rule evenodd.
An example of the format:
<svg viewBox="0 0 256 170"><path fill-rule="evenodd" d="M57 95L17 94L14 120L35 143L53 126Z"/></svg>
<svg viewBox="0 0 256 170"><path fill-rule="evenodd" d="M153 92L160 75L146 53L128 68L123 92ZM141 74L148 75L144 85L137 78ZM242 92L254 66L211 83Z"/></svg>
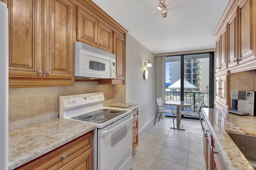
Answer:
<svg viewBox="0 0 256 170"><path fill-rule="evenodd" d="M230 90L256 91L256 70L230 74Z"/></svg>

